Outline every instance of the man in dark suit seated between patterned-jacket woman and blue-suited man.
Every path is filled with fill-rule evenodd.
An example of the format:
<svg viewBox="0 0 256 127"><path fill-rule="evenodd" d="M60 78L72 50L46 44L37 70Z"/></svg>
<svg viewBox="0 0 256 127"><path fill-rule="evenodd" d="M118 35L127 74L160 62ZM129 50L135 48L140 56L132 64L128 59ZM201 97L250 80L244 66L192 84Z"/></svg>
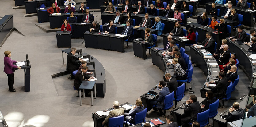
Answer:
<svg viewBox="0 0 256 127"><path fill-rule="evenodd" d="M178 87L178 82L177 80L171 76L170 73L166 73L165 75L165 79L169 82L167 82L167 86L169 88L169 91L170 93L172 93L174 91L174 94L176 94L176 90L177 90L177 87Z"/></svg>

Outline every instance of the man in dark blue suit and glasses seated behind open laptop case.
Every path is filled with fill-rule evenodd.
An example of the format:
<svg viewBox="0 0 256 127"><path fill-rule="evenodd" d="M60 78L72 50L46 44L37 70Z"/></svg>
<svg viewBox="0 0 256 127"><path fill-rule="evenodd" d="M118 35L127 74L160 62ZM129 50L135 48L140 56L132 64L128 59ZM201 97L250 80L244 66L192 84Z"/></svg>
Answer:
<svg viewBox="0 0 256 127"><path fill-rule="evenodd" d="M157 105L157 108L159 110L159 113L157 115L164 115L163 114L163 111L162 109L160 108L163 108L164 105L164 97L168 94L170 94L170 91L169 91L169 88L168 87L165 87L165 81L159 81L159 84L158 84L158 88L161 89L161 91L159 92L159 96L158 98L155 100L151 100L150 101L150 104L151 105Z"/></svg>

